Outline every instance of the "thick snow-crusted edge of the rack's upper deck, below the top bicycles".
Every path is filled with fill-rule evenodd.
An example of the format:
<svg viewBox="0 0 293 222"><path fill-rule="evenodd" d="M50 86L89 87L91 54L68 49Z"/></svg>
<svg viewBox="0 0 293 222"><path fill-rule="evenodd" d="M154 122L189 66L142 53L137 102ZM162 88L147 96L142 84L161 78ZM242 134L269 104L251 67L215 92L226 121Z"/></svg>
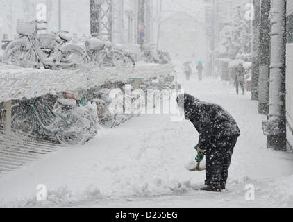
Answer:
<svg viewBox="0 0 293 222"><path fill-rule="evenodd" d="M5 68L4 68L5 67ZM81 67L76 70L22 69L0 64L0 102L12 99L31 99L45 94L57 94L67 90L89 89L106 82L131 79L147 79L171 74L174 66L138 64L134 71L129 67Z"/></svg>

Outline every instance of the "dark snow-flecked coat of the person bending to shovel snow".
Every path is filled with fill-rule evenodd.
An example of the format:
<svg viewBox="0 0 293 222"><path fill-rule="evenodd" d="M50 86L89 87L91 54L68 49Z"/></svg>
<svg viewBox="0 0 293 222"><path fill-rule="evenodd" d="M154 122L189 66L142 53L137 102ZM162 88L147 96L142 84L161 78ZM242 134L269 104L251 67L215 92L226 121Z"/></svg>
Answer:
<svg viewBox="0 0 293 222"><path fill-rule="evenodd" d="M197 146L202 150L206 150L210 144L223 137L240 135L231 114L217 104L199 101L189 94L184 94L184 111L185 119L189 119L199 132Z"/></svg>

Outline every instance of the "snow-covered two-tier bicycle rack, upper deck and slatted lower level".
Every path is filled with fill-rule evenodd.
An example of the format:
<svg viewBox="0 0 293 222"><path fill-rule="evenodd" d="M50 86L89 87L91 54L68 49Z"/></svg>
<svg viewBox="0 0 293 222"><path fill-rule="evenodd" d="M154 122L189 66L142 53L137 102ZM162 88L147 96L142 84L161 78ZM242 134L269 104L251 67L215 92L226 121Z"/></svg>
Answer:
<svg viewBox="0 0 293 222"><path fill-rule="evenodd" d="M76 70L22 69L0 64L0 103L3 128L0 124L0 176L17 169L40 155L60 148L55 138L22 135L11 129L11 101L31 99L67 90L90 89L108 82L127 83L147 80L174 72L171 64L140 64L135 69L81 67ZM4 114L4 115L3 115Z"/></svg>

